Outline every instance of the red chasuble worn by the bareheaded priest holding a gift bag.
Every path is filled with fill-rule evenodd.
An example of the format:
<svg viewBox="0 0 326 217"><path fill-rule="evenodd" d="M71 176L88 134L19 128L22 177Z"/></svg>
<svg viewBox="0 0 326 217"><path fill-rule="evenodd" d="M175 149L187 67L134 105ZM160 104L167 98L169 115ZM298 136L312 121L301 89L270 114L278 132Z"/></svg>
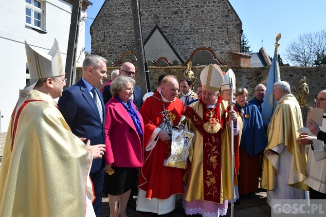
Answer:
<svg viewBox="0 0 326 217"><path fill-rule="evenodd" d="M177 126L184 106L180 99L173 102L163 102L159 91L148 97L140 113L145 124L145 146L152 137L154 130L163 122L164 115L160 112L168 111L168 119ZM145 164L141 168L138 187L146 192L146 198L167 199L174 194L182 194L182 169L164 166L164 160L170 153L171 141L163 142L158 137L153 149L145 151Z"/></svg>

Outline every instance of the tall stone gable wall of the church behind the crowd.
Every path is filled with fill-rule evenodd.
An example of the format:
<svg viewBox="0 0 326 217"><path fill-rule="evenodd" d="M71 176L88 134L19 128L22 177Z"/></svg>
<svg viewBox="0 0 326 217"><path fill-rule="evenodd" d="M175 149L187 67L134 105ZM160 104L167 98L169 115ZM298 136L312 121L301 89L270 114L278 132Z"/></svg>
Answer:
<svg viewBox="0 0 326 217"><path fill-rule="evenodd" d="M228 0L142 0L141 16L144 41L159 25L184 61L207 47L233 65L231 54L240 52L242 23ZM135 51L130 0L106 0L91 25L91 37L92 54L113 63Z"/></svg>

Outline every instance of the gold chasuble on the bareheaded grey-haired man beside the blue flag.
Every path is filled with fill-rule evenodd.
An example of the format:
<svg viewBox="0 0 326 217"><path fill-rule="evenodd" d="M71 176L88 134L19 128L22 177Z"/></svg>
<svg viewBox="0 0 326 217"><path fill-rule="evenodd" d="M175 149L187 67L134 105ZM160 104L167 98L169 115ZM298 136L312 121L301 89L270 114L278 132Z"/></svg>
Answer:
<svg viewBox="0 0 326 217"><path fill-rule="evenodd" d="M278 101L271 122L268 126L268 145L265 150L275 148L277 145L284 144L291 154L291 160L294 163L290 165L290 174L288 185L308 190L308 186L304 183L306 177L307 155L305 154L305 145L298 145L296 139L300 133L298 129L303 127L302 114L298 101L290 93L285 95ZM280 153L282 154L282 153ZM279 155L264 155L261 187L266 190L273 190L276 186L276 176Z"/></svg>

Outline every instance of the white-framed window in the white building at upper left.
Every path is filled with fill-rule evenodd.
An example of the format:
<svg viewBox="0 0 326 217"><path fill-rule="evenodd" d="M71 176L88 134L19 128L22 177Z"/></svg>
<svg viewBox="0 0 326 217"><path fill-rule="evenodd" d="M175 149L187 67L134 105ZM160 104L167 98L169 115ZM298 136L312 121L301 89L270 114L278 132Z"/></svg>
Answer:
<svg viewBox="0 0 326 217"><path fill-rule="evenodd" d="M26 2L26 24L39 29L43 28L43 1L25 0Z"/></svg>

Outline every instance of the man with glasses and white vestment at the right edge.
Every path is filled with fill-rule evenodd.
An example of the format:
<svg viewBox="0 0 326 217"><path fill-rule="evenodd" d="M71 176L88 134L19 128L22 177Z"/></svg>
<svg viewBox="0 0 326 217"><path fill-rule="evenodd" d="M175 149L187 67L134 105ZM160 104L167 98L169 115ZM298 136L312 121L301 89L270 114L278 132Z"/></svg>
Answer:
<svg viewBox="0 0 326 217"><path fill-rule="evenodd" d="M300 134L297 143L309 145L307 160L307 179L310 199L326 199L326 90L322 90L315 98L316 108L324 109L323 125L318 127L311 119L307 120L307 127L314 136ZM322 131L323 130L323 131Z"/></svg>

